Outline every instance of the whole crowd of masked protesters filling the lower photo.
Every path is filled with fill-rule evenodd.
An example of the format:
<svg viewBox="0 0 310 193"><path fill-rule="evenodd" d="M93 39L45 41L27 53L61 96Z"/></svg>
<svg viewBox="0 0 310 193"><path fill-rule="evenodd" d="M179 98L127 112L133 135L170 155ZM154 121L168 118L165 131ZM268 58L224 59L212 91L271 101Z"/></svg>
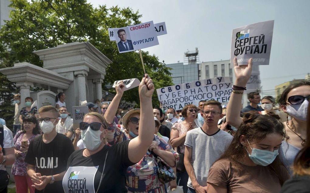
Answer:
<svg viewBox="0 0 310 193"><path fill-rule="evenodd" d="M152 106L154 85L145 74L139 109L119 108L119 81L111 103L86 104L76 129L64 93L55 107L39 109L31 97L21 107L16 94L13 132L0 124L0 192L7 192L5 166L12 164L18 193L309 192L310 82L287 87L281 109L257 92L241 109L252 60L238 66L235 58L234 71L227 106L201 100L163 111Z"/></svg>

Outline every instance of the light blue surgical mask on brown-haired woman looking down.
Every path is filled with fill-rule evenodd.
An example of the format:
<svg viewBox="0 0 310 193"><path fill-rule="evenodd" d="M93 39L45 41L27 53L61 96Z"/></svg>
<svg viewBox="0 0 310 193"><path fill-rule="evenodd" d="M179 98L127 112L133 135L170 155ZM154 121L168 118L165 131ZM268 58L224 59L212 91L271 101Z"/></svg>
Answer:
<svg viewBox="0 0 310 193"><path fill-rule="evenodd" d="M246 140L246 141L248 141L248 140ZM249 141L248 141L248 143L249 143ZM250 145L250 143L249 143L249 145ZM252 149L251 155L248 152L248 150L246 149L246 151L249 153L250 159L255 164L258 164L261 166L268 166L269 164L271 164L276 159L277 155L279 155L278 149L271 152L268 150L252 148L251 145L250 145L250 148Z"/></svg>

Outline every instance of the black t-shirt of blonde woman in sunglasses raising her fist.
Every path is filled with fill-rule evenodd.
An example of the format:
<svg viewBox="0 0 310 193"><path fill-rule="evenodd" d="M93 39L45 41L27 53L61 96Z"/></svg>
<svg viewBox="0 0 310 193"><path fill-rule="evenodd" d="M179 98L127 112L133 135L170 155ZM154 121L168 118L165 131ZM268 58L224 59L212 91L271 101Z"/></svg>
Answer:
<svg viewBox="0 0 310 193"><path fill-rule="evenodd" d="M98 189L99 182L100 182L105 157L108 152L106 164L104 168L104 173L103 173L103 178L102 178L102 182L101 182L98 192L101 192L101 193L127 192L126 176L125 176L126 170L127 170L127 167L135 164L135 163L132 163L128 158L129 142L130 140L122 141L112 146L105 145L99 152L89 157L83 156L84 149L75 151L69 157L68 164L67 164L68 168L70 166L71 167L99 166L95 174L95 179L94 179L94 189L96 192ZM67 181L64 180L63 186L69 186L69 185L70 184L68 182L68 179ZM70 189L71 187L65 187L65 188ZM92 191L89 191L89 192L91 193Z"/></svg>

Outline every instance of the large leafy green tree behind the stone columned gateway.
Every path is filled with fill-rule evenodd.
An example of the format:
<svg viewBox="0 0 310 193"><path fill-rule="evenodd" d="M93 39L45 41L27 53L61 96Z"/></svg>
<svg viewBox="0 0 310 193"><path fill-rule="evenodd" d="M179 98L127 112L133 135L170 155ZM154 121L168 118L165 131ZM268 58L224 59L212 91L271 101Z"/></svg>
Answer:
<svg viewBox="0 0 310 193"><path fill-rule="evenodd" d="M11 20L0 31L1 67L16 62L42 66L34 50L55 47L76 41L89 41L113 61L106 70L103 89L114 92L110 85L116 80L143 77L138 52L120 54L111 42L108 28L141 23L139 12L105 5L94 8L86 0L11 0ZM142 52L146 73L154 81L155 89L172 85L169 69L155 55ZM0 83L2 84L2 82ZM139 104L138 89L128 90L123 99ZM154 92L153 105L159 105Z"/></svg>

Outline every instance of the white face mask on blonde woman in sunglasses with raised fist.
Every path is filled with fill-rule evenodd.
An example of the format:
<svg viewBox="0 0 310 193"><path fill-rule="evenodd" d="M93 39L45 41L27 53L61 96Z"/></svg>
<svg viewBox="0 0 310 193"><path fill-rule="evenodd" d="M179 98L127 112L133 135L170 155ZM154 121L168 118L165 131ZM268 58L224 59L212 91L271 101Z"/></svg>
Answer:
<svg viewBox="0 0 310 193"><path fill-rule="evenodd" d="M100 140L100 135L102 132L103 131L100 130L94 131L90 126L81 131L81 137L87 149L94 151L100 146L101 141L103 140L103 138Z"/></svg>

